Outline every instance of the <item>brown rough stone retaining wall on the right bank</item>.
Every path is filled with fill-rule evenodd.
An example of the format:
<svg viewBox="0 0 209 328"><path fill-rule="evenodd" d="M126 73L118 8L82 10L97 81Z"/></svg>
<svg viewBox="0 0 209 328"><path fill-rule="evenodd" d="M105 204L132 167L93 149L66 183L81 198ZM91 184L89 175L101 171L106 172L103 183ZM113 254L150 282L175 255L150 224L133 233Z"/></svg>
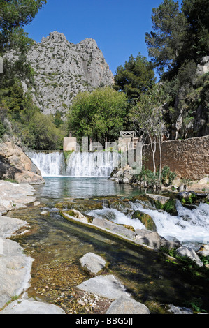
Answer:
<svg viewBox="0 0 209 328"><path fill-rule="evenodd" d="M155 154L159 165L159 145ZM150 146L143 148L143 164L153 170ZM209 135L162 143L162 167L170 167L179 178L199 180L209 174Z"/></svg>

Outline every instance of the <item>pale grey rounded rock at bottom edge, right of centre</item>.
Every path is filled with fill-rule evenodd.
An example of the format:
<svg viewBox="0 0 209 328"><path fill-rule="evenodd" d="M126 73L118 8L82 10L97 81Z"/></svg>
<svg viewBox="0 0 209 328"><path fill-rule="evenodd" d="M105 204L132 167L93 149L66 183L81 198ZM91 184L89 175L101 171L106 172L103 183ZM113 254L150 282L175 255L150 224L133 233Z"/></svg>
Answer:
<svg viewBox="0 0 209 328"><path fill-rule="evenodd" d="M150 310L135 299L122 295L113 301L106 314L150 314Z"/></svg>

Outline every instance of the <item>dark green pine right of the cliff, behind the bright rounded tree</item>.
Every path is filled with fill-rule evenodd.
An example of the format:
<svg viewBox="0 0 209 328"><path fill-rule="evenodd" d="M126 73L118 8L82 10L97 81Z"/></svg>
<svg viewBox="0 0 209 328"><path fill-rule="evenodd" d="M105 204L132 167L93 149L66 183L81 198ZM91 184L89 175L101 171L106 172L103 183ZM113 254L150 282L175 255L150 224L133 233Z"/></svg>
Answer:
<svg viewBox="0 0 209 328"><path fill-rule="evenodd" d="M136 103L155 82L153 65L140 53L136 58L131 54L129 61L117 68L114 79L114 89L123 91L132 103Z"/></svg>

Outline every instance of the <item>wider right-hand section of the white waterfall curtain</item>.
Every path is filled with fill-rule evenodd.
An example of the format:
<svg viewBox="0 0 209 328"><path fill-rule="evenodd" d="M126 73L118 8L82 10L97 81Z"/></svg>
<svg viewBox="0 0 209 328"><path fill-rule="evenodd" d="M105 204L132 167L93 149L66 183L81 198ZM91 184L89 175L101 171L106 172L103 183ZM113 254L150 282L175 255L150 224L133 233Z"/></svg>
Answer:
<svg viewBox="0 0 209 328"><path fill-rule="evenodd" d="M118 165L115 151L76 152L69 156L66 175L69 177L110 177Z"/></svg>

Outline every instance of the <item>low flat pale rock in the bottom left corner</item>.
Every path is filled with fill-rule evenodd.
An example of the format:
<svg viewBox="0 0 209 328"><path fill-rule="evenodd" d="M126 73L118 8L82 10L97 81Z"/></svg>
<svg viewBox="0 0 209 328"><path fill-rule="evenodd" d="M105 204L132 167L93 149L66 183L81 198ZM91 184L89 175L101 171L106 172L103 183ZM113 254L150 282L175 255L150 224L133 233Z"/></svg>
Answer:
<svg viewBox="0 0 209 328"><path fill-rule="evenodd" d="M18 299L13 301L0 314L66 314L62 308L41 301Z"/></svg>

